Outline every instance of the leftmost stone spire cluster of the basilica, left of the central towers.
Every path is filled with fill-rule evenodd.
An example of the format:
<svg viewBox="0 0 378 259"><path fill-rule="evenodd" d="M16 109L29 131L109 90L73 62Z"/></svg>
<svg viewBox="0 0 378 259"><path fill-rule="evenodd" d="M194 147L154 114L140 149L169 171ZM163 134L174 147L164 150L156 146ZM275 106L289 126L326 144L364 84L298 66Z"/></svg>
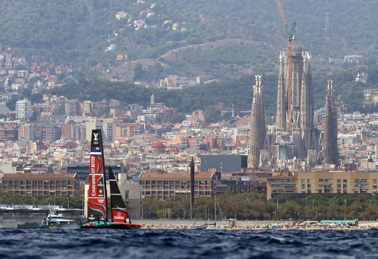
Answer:
<svg viewBox="0 0 378 259"><path fill-rule="evenodd" d="M262 149L266 133L261 75L256 75L255 79L256 83L253 86L253 101L250 117L249 168L257 168L259 165L260 150Z"/></svg>

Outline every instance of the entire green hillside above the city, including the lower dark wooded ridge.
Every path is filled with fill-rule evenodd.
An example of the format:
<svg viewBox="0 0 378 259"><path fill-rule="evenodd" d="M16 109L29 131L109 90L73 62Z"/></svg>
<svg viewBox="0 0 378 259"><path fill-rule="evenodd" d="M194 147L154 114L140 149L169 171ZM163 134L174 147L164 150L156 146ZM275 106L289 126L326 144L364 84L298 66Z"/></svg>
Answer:
<svg viewBox="0 0 378 259"><path fill-rule="evenodd" d="M375 87L378 79L373 66L378 55L376 1L282 0L282 4L288 23L297 24L294 43L312 52L316 107L324 103L326 80L334 79L336 94L350 103L351 110L361 110L362 89ZM126 17L116 19L119 11ZM327 13L330 27L324 29ZM135 28L138 20L143 23ZM287 44L275 0L7 0L0 1L0 31L0 44L18 52L90 69L91 79L80 81L82 86L66 86L83 91L73 97L122 96L125 103L143 103L155 91L159 101L182 112L218 102L248 109L253 75L258 73L264 75L267 114L274 115L278 53ZM110 44L117 47L105 52ZM117 62L119 53L128 55L128 61ZM348 54L365 56L368 66L328 63L329 57ZM368 70L370 83L354 83L363 70ZM128 84L134 79L158 82L168 74L219 78L221 83L184 91Z"/></svg>

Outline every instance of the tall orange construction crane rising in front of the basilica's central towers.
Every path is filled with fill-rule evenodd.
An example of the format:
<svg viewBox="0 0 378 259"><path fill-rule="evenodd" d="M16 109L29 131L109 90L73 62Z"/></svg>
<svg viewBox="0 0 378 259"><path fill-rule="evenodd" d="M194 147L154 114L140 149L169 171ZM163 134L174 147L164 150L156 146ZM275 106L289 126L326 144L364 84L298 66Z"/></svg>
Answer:
<svg viewBox="0 0 378 259"><path fill-rule="evenodd" d="M286 16L284 13L284 9L282 8L281 0L276 0L278 10L280 11L282 23L285 26L286 32L288 34L288 42L287 42L287 52L286 52L286 98L287 98L287 127L289 130L292 128L292 103L293 103L293 59L291 54L291 41L294 40L295 35L295 22L291 25L291 29L288 28Z"/></svg>

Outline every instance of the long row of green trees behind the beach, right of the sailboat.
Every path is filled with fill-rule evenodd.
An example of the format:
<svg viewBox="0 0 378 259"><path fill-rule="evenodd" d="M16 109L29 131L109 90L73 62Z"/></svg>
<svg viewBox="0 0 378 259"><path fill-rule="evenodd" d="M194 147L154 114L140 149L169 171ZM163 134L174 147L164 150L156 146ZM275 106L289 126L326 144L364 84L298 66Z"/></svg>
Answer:
<svg viewBox="0 0 378 259"><path fill-rule="evenodd" d="M216 203L216 204L215 204ZM225 193L217 197L198 197L192 211L190 201L175 198L156 201L143 199L144 218L190 218L220 220L377 220L378 198L369 195L280 195L267 201L263 194ZM216 211L215 211L216 209ZM191 215L192 214L192 215Z"/></svg>

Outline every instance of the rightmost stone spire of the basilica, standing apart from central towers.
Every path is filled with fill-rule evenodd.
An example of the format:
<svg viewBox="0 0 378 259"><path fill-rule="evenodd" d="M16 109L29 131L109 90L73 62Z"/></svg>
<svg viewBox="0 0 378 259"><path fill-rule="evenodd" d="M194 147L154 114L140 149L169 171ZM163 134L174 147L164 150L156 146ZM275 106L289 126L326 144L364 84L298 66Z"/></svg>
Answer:
<svg viewBox="0 0 378 259"><path fill-rule="evenodd" d="M323 164L339 164L337 147L337 111L334 104L333 81L327 82L323 132Z"/></svg>

